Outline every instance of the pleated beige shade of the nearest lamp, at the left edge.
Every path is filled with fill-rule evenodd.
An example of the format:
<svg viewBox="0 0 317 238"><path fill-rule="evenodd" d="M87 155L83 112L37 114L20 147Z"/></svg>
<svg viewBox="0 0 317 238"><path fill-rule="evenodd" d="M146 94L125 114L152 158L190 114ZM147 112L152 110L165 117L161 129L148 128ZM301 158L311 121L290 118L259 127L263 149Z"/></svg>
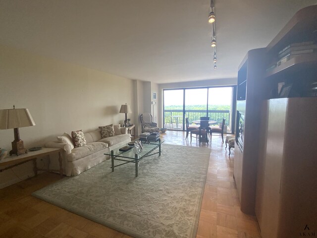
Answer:
<svg viewBox="0 0 317 238"><path fill-rule="evenodd" d="M35 125L27 108L0 110L0 129L12 129Z"/></svg>

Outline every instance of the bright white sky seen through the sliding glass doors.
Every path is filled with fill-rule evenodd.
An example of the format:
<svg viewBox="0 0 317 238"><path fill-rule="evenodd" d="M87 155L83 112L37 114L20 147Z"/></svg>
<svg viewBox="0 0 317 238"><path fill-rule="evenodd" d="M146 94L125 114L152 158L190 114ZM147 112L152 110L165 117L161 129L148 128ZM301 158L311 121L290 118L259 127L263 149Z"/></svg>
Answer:
<svg viewBox="0 0 317 238"><path fill-rule="evenodd" d="M208 90L209 105L231 105L231 87L185 89L185 105L206 105ZM183 89L164 91L164 106L172 105L183 105Z"/></svg>

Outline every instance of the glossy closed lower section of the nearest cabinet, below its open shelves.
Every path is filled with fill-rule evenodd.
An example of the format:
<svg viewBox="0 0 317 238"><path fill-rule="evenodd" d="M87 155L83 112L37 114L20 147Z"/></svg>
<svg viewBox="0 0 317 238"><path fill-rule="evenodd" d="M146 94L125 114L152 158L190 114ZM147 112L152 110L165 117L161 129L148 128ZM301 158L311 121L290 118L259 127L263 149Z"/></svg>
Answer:
<svg viewBox="0 0 317 238"><path fill-rule="evenodd" d="M317 232L317 97L270 99L266 105L256 203L261 235L308 236Z"/></svg>

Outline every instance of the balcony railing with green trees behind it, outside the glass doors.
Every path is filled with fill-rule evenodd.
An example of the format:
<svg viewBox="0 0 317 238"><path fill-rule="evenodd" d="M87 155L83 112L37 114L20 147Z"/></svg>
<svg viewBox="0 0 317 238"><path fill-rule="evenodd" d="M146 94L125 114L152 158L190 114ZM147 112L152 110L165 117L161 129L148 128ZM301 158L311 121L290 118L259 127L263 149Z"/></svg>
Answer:
<svg viewBox="0 0 317 238"><path fill-rule="evenodd" d="M193 120L199 120L201 117L206 117L206 110L185 110L185 117L183 117L183 110L164 110L164 127L173 130L183 130L183 121L188 118L189 124ZM226 119L225 124L230 125L230 111L229 110L208 110L208 117L210 120L215 120L222 123L222 119ZM184 127L186 130L186 128Z"/></svg>

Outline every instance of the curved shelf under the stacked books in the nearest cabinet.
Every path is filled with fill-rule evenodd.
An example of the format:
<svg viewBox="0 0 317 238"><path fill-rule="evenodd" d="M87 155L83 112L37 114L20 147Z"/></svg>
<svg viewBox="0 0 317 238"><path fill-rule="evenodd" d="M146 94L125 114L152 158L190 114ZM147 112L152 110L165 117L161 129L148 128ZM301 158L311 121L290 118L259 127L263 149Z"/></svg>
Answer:
<svg viewBox="0 0 317 238"><path fill-rule="evenodd" d="M297 55L294 56L292 59L287 60L284 63L281 63L281 65L277 66L276 68L267 71L265 77L267 78L282 72L296 72L314 65L317 66L317 53Z"/></svg>

